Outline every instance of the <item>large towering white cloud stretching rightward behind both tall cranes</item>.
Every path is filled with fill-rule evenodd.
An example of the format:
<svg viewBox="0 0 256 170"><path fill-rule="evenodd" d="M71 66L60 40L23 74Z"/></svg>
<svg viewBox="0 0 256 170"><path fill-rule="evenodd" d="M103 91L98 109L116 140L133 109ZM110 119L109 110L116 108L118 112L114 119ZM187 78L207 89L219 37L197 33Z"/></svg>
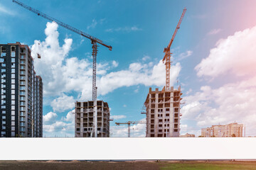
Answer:
<svg viewBox="0 0 256 170"><path fill-rule="evenodd" d="M79 60L78 57L68 57L73 40L65 38L63 46L58 40L58 25L56 23L46 24L46 40L35 40L31 47L31 55L34 58L36 73L41 75L44 83L44 96L57 97L51 106L54 111L65 111L70 109L71 103L60 107L62 100L73 102L70 96L64 96L70 92L78 92L78 100L88 100L92 96L92 61ZM39 45L40 44L40 45ZM41 59L36 53L40 52ZM146 64L134 62L127 69L111 72L117 66L117 62L97 64L97 94L105 95L122 86L134 86L143 84L145 86L164 86L165 65L160 61L158 64L148 62ZM171 67L171 84L176 82L181 65L176 63ZM82 94L80 94L82 91Z"/></svg>

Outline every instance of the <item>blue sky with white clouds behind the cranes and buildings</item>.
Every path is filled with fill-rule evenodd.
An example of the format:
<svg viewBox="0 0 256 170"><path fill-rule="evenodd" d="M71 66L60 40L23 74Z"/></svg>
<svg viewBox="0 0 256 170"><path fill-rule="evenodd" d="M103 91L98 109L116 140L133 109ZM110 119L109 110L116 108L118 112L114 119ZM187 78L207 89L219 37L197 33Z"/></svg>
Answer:
<svg viewBox="0 0 256 170"><path fill-rule="evenodd" d="M150 86L163 88L165 69L159 61L164 57L164 47L171 40L182 9L186 7L181 28L171 46L174 53L171 83L176 87L178 79L186 101L181 109L181 134L200 135L200 128L234 120L249 125L249 134L256 133L252 122L255 116L253 101L247 103L244 94L235 94L235 91L255 93L255 86L235 89L243 82L250 84L254 78L254 69L238 74L240 69L247 70L248 63L255 62L250 57L254 49L247 49L252 47L253 39L242 39L245 47L235 54L250 53L241 61L238 61L239 56L231 57L229 49L238 50L235 42L242 36L248 34L254 38L252 28L256 26L256 20L252 16L256 12L252 4L255 1L22 2L112 45L111 52L106 47L99 47L97 86L98 98L109 103L114 117L110 124L113 137L127 136L127 127L117 127L114 122L145 118L140 111ZM48 23L45 18L8 0L0 1L0 18L1 43L18 41L29 45L33 56L41 52L42 59L35 59L35 69L43 77L45 89L44 136L74 136L73 103L90 100L92 96L90 40L57 27L55 23ZM39 48L38 41L41 42ZM214 48L220 52L211 50ZM203 62L203 59L208 62ZM238 59L243 67L233 63L234 59ZM222 89L233 91L216 96ZM223 96L230 101L225 103L228 99L223 99ZM235 109L242 103L247 108ZM247 116L242 114L245 110L249 111ZM132 136L144 136L144 125L132 128Z"/></svg>

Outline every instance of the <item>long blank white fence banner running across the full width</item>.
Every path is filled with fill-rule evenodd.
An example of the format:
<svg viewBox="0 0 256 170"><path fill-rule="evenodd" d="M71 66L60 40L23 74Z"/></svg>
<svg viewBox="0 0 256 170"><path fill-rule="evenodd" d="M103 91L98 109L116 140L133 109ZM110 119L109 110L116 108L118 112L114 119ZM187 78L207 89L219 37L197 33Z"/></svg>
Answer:
<svg viewBox="0 0 256 170"><path fill-rule="evenodd" d="M1 138L0 159L256 159L256 138Z"/></svg>

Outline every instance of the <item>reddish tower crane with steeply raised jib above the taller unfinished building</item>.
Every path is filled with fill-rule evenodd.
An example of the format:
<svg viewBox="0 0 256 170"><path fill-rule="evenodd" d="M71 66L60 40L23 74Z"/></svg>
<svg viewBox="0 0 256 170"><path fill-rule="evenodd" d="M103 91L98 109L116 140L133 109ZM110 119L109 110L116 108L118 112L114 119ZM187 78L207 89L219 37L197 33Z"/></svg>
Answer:
<svg viewBox="0 0 256 170"><path fill-rule="evenodd" d="M170 90L170 69L171 69L171 52L170 52L170 48L171 48L171 44L172 42L174 42L174 38L176 36L176 33L178 32L178 29L181 26L181 21L184 17L186 13L186 8L183 8L183 13L181 15L180 20L178 21L178 25L176 26L176 30L174 31L174 35L171 38L171 41L169 42L169 45L167 47L164 48L164 58L163 58L163 62L165 61L165 65L166 65L166 90Z"/></svg>

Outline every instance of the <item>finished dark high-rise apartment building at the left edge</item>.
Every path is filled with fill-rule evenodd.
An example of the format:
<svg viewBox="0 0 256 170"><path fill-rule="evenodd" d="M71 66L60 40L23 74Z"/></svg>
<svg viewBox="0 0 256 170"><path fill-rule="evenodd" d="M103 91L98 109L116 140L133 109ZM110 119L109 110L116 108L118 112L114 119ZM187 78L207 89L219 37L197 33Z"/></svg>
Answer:
<svg viewBox="0 0 256 170"><path fill-rule="evenodd" d="M43 137L43 81L28 45L0 45L1 137Z"/></svg>

